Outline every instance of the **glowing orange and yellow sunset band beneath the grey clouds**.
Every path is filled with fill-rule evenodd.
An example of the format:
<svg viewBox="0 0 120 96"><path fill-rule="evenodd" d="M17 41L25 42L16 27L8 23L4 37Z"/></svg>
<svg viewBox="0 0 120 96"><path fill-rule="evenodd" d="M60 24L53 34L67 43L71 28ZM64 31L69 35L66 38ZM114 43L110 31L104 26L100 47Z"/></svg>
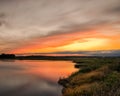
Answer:
<svg viewBox="0 0 120 96"><path fill-rule="evenodd" d="M37 38L10 53L50 53L62 51L97 51L120 49L120 34L104 34L94 29Z"/></svg>

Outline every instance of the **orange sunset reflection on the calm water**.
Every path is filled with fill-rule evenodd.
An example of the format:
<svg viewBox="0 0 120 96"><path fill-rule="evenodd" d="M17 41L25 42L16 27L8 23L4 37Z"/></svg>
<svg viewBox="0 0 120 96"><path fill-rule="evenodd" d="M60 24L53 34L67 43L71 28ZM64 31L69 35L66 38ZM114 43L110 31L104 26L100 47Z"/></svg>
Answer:
<svg viewBox="0 0 120 96"><path fill-rule="evenodd" d="M57 81L60 77L67 77L75 72L74 64L71 61L24 61L24 71L30 75L36 75L44 79Z"/></svg>

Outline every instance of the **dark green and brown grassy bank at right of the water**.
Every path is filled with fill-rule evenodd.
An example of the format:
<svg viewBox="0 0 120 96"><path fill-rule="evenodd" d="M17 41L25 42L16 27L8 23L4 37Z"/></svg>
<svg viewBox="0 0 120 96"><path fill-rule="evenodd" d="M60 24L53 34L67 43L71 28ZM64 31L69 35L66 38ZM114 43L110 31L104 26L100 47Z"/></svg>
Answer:
<svg viewBox="0 0 120 96"><path fill-rule="evenodd" d="M120 58L76 59L78 71L58 81L63 96L120 96Z"/></svg>

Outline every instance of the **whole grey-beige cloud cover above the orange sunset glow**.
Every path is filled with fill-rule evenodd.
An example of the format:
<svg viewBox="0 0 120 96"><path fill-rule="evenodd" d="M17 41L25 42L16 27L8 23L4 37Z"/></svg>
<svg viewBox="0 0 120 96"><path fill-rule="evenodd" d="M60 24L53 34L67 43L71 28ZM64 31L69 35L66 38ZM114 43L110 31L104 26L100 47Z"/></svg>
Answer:
<svg viewBox="0 0 120 96"><path fill-rule="evenodd" d="M119 25L119 5L119 0L0 0L0 11L6 15L2 20L8 24L0 27L0 38L14 48L35 38L97 27L114 34L105 26Z"/></svg>

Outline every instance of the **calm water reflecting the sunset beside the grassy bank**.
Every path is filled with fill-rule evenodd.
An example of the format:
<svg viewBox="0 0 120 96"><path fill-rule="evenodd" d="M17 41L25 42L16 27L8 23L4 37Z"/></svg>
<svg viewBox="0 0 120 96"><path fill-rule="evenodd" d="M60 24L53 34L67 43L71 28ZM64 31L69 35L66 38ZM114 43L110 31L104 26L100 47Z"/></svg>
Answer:
<svg viewBox="0 0 120 96"><path fill-rule="evenodd" d="M0 96L61 96L57 81L75 70L70 61L0 61Z"/></svg>

